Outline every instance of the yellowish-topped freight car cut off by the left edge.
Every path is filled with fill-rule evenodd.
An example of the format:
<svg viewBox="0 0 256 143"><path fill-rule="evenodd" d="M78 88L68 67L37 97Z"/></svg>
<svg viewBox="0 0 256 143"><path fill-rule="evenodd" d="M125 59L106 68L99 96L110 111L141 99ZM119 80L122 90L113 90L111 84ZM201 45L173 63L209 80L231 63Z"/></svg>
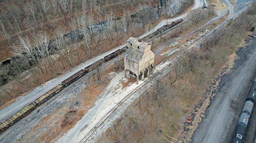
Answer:
<svg viewBox="0 0 256 143"><path fill-rule="evenodd" d="M23 108L20 112L13 115L13 117L7 119L4 123L0 124L0 132L5 131L8 127L13 125L15 122L25 117L27 113L33 111L34 108L35 108L35 105L32 103L26 106L25 108Z"/></svg>

